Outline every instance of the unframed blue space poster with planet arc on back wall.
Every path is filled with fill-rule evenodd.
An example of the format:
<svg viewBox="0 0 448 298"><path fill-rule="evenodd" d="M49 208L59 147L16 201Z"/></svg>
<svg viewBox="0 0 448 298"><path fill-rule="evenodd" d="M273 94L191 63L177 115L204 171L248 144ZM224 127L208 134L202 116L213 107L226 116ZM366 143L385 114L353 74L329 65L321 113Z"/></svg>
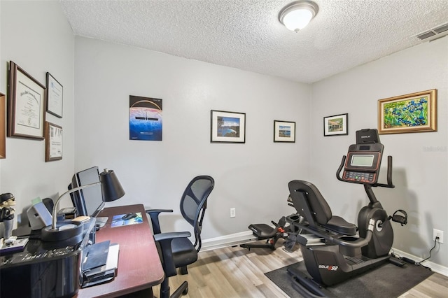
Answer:
<svg viewBox="0 0 448 298"><path fill-rule="evenodd" d="M129 139L162 141L162 99L129 97Z"/></svg>

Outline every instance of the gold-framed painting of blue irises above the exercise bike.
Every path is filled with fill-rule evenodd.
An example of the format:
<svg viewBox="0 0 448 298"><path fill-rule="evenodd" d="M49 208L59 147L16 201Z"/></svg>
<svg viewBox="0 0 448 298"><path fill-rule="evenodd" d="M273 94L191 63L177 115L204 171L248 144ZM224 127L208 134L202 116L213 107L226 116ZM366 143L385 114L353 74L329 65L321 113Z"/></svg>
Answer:
<svg viewBox="0 0 448 298"><path fill-rule="evenodd" d="M437 89L379 99L378 132L437 132Z"/></svg>

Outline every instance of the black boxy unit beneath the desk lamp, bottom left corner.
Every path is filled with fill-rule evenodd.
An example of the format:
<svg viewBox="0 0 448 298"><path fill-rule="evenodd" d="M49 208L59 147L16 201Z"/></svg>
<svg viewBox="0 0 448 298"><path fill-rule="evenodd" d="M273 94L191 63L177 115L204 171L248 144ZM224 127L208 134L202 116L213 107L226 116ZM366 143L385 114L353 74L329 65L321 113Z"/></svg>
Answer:
<svg viewBox="0 0 448 298"><path fill-rule="evenodd" d="M0 257L0 297L72 297L80 288L83 248L94 243L95 219L79 243L44 242L31 234L22 252Z"/></svg>

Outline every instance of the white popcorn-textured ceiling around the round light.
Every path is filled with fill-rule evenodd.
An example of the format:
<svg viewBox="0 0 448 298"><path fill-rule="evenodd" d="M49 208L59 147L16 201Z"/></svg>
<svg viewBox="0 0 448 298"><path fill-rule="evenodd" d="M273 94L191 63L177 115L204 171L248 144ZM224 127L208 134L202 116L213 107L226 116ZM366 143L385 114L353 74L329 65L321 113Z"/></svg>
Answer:
<svg viewBox="0 0 448 298"><path fill-rule="evenodd" d="M278 14L293 0L61 0L74 34L313 83L422 43L448 22L447 0L315 0L295 33Z"/></svg>

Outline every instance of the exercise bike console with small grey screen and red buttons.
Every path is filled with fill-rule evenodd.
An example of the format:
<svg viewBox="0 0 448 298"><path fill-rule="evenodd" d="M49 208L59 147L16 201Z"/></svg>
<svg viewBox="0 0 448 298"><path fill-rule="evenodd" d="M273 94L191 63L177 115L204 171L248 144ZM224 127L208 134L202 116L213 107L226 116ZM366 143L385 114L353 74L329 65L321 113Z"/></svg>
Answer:
<svg viewBox="0 0 448 298"><path fill-rule="evenodd" d="M383 149L381 143L351 145L345 160L342 180L351 183L377 183Z"/></svg>

